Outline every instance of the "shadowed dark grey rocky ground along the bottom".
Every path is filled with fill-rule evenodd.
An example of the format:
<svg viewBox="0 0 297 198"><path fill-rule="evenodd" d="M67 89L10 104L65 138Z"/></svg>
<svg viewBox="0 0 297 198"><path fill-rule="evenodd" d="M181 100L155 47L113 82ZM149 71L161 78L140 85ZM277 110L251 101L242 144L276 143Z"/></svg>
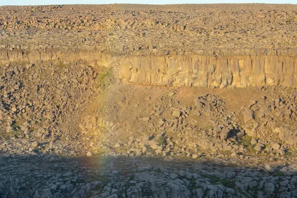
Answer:
<svg viewBox="0 0 297 198"><path fill-rule="evenodd" d="M206 158L2 155L0 198L296 197L292 167L271 168Z"/></svg>

